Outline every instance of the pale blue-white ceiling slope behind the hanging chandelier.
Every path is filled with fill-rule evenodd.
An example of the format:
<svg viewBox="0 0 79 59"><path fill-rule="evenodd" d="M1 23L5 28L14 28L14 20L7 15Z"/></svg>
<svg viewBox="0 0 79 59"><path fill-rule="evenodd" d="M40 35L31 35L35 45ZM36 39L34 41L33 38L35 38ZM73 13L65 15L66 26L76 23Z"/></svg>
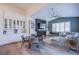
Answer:
<svg viewBox="0 0 79 59"><path fill-rule="evenodd" d="M32 14L32 18L40 18L47 21L53 20L50 17L50 9L53 8L54 12L60 17L79 17L79 4L78 3L50 3L45 8Z"/></svg>

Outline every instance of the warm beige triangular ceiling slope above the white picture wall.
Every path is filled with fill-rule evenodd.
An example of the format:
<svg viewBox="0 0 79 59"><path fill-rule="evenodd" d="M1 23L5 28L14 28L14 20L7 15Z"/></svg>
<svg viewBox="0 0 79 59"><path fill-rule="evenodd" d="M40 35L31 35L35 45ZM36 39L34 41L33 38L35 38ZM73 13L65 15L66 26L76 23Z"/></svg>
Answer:
<svg viewBox="0 0 79 59"><path fill-rule="evenodd" d="M45 7L47 4L45 3L11 3L9 5L23 10L27 16L30 16L33 13L40 10L41 8Z"/></svg>

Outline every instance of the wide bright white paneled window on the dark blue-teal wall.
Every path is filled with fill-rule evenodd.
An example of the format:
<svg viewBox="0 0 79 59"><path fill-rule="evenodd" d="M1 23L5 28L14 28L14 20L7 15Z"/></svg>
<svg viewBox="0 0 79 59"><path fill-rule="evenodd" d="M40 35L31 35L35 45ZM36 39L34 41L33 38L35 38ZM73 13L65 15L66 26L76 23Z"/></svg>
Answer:
<svg viewBox="0 0 79 59"><path fill-rule="evenodd" d="M52 32L70 32L70 22L53 23Z"/></svg>

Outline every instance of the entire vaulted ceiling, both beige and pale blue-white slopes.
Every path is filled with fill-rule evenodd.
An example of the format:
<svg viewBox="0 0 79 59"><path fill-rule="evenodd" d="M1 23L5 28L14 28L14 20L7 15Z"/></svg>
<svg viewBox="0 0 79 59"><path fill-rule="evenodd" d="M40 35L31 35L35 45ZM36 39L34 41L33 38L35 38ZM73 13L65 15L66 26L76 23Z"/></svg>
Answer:
<svg viewBox="0 0 79 59"><path fill-rule="evenodd" d="M27 17L42 18L44 20L52 20L49 17L51 8L61 17L79 16L79 4L77 3L10 3L8 5L21 9Z"/></svg>

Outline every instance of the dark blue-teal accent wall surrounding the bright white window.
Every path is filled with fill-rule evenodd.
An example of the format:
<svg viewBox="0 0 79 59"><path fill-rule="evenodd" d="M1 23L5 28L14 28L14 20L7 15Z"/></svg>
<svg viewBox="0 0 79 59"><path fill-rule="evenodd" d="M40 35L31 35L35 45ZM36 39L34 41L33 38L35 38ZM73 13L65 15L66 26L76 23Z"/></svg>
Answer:
<svg viewBox="0 0 79 59"><path fill-rule="evenodd" d="M71 32L79 32L79 17L61 17L55 20L52 20L48 23L48 30L52 32L52 24L53 23L60 23L60 22L67 22L70 21L70 31Z"/></svg>

